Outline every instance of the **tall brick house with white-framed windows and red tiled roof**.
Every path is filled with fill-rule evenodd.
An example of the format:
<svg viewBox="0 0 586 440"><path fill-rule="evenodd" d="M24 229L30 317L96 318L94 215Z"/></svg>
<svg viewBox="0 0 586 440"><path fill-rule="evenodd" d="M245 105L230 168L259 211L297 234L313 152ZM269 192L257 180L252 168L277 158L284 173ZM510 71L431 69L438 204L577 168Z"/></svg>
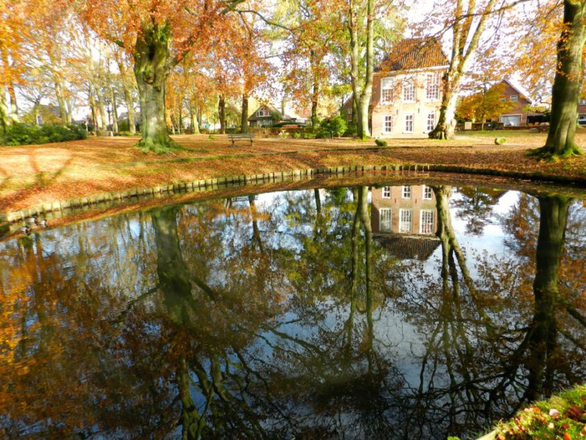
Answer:
<svg viewBox="0 0 586 440"><path fill-rule="evenodd" d="M434 38L397 43L374 72L373 137L426 137L436 126L448 59Z"/></svg>

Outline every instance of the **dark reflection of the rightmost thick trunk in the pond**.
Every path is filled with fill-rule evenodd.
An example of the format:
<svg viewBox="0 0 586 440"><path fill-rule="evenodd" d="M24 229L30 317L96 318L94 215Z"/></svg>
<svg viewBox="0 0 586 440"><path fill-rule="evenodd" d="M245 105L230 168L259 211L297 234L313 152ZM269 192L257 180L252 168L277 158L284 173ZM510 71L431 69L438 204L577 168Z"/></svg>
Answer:
<svg viewBox="0 0 586 440"><path fill-rule="evenodd" d="M553 364L557 347L555 305L558 301L558 269L564 246L569 199L560 196L539 197L540 232L537 238L535 314L528 332L529 386L526 397L535 400L549 395L553 387Z"/></svg>

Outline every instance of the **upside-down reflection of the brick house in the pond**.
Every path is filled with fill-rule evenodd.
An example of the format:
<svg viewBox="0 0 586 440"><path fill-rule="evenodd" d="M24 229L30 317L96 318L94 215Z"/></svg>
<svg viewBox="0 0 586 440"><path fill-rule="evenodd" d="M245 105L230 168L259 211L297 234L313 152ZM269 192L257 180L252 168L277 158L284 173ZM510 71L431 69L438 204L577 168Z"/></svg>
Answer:
<svg viewBox="0 0 586 440"><path fill-rule="evenodd" d="M436 196L426 185L372 188L372 234L399 258L426 260L439 246Z"/></svg>

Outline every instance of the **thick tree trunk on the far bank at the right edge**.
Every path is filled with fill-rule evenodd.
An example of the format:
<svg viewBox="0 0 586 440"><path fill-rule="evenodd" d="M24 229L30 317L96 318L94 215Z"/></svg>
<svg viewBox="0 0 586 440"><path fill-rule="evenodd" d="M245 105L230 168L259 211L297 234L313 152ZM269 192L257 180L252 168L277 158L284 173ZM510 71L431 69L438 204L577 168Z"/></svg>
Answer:
<svg viewBox="0 0 586 440"><path fill-rule="evenodd" d="M551 158L580 154L576 146L578 99L582 79L586 1L564 1L564 30L558 41L558 71L553 80L551 119L545 146L533 154Z"/></svg>

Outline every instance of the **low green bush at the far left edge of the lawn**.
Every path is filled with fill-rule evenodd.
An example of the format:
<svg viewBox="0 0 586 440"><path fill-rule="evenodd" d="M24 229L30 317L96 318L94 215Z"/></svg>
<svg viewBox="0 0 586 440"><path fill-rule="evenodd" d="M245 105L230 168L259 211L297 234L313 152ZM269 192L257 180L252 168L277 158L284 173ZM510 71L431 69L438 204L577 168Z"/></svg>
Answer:
<svg viewBox="0 0 586 440"><path fill-rule="evenodd" d="M76 139L87 139L87 131L81 126L68 124L46 124L43 126L29 126L14 124L6 128L1 143L4 145L31 145L46 144L47 142L64 142Z"/></svg>

